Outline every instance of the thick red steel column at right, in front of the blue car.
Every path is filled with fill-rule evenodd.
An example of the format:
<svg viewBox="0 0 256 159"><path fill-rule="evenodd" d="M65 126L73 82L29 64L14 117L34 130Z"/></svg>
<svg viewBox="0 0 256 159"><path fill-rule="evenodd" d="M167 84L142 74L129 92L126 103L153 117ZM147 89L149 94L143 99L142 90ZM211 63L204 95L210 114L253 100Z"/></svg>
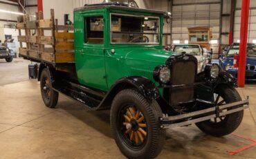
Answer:
<svg viewBox="0 0 256 159"><path fill-rule="evenodd" d="M239 46L239 69L237 84L244 87L246 77L246 52L248 37L248 21L249 21L250 0L241 1L241 28L240 28L240 46Z"/></svg>

